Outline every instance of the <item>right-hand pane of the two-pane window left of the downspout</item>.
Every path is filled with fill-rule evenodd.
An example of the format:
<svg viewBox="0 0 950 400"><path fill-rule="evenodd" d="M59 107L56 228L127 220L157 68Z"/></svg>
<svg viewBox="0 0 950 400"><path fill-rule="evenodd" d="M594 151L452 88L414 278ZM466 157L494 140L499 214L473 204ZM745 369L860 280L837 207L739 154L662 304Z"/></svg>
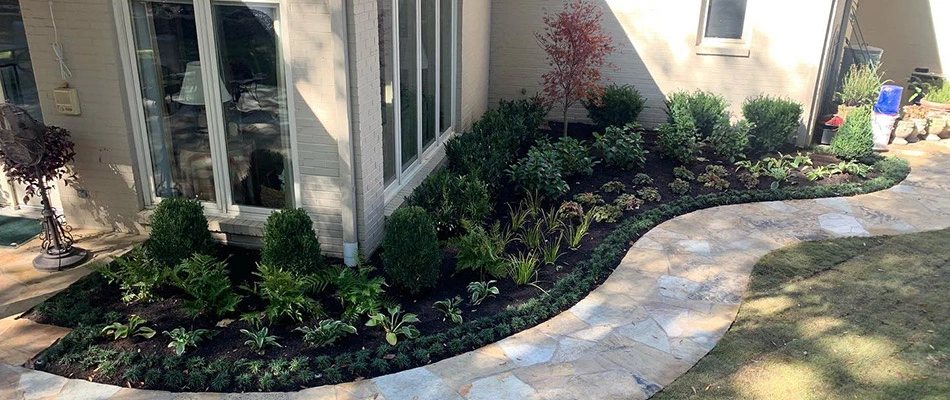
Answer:
<svg viewBox="0 0 950 400"><path fill-rule="evenodd" d="M290 127L277 7L214 4L234 204L293 205Z"/></svg>

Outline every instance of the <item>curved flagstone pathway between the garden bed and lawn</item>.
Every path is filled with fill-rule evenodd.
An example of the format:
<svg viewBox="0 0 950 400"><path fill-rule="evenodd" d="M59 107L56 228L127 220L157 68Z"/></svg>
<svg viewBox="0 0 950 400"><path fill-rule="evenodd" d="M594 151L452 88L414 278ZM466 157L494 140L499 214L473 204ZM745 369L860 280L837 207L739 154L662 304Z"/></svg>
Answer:
<svg viewBox="0 0 950 400"><path fill-rule="evenodd" d="M638 240L607 281L570 310L425 367L296 393L189 394L0 364L0 398L647 398L719 341L763 255L805 240L950 227L950 149L944 143L895 147L914 169L894 188L850 198L716 207L674 218Z"/></svg>

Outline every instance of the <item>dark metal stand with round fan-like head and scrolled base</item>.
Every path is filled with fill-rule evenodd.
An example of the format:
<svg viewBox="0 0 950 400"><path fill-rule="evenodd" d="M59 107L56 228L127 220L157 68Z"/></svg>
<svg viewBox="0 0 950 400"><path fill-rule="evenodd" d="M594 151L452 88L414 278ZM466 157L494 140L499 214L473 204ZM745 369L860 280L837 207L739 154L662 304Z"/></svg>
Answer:
<svg viewBox="0 0 950 400"><path fill-rule="evenodd" d="M62 271L86 260L89 252L73 246L72 228L66 217L57 215L50 204L48 188L39 164L43 161L46 127L20 107L0 104L0 149L17 168L36 168L43 201L43 250L33 259L33 268L45 272Z"/></svg>

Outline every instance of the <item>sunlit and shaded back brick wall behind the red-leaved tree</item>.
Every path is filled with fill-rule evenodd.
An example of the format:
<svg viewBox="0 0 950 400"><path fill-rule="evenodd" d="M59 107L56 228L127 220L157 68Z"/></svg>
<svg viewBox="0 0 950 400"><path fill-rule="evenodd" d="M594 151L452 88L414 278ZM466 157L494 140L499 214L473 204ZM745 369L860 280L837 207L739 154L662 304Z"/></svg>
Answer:
<svg viewBox="0 0 950 400"><path fill-rule="evenodd" d="M802 103L806 113L811 108L832 0L750 1L749 57L696 54L701 0L595 1L605 11L604 28L619 46L608 60L619 70L608 69L605 76L636 86L647 98L640 117L647 126L665 122L665 94L682 89L720 93L737 115L745 98L760 93L788 96ZM523 97L522 89L540 91L548 66L534 32L542 30L545 12L556 12L563 4L493 2L490 103ZM577 106L570 117L586 119L586 111Z"/></svg>

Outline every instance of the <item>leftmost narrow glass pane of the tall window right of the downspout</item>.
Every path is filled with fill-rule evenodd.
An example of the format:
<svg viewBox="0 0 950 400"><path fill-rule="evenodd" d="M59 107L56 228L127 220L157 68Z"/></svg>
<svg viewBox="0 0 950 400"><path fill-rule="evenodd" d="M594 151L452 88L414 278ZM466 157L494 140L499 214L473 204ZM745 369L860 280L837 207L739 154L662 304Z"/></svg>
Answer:
<svg viewBox="0 0 950 400"><path fill-rule="evenodd" d="M383 105L383 182L396 179L395 89L393 88L393 10L392 0L378 0L379 10L379 84Z"/></svg>

